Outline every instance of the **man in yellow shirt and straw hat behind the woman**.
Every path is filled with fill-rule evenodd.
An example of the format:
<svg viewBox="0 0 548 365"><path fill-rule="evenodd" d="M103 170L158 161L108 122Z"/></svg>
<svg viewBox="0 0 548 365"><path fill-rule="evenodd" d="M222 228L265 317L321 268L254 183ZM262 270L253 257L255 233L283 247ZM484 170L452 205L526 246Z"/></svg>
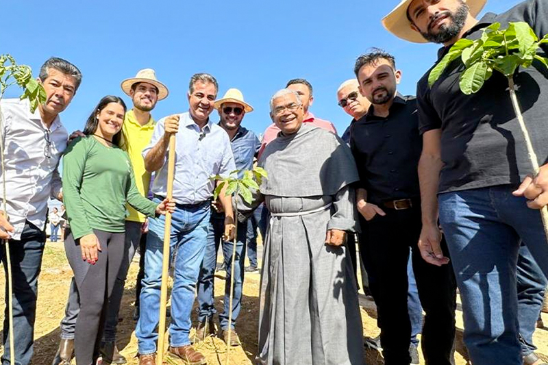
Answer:
<svg viewBox="0 0 548 365"><path fill-rule="evenodd" d="M145 170L145 162L142 160L141 151L149 144L155 125L151 110L154 109L156 102L165 99L169 92L166 86L156 79L156 74L151 68L140 70L135 77L125 79L122 81L121 88L133 101L132 110L129 110L124 117L121 148L127 151L129 160L132 162L137 189L146 196L149 191L151 173ZM140 214L129 205L127 205L127 210L129 216L127 216L125 223L125 260L116 277L105 318L103 342L101 343L103 362L112 364L125 364L127 362L116 348L116 325L118 324L118 312L122 301L127 270L140 242L141 229L146 219L143 214ZM65 316L61 320L61 340L52 365L61 362L68 364L71 361L74 349L74 329L78 313L79 295L73 279L69 290L69 299L66 303Z"/></svg>

